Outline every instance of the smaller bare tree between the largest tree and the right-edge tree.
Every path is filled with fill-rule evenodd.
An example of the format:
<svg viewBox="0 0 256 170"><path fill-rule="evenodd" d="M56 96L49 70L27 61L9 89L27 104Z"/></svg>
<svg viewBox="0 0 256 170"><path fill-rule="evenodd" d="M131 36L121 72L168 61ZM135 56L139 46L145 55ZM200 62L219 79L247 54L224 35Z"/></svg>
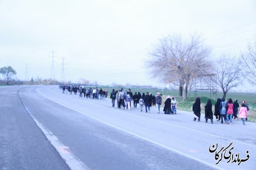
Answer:
<svg viewBox="0 0 256 170"><path fill-rule="evenodd" d="M230 55L222 54L216 65L217 78L212 79L223 91L223 98L227 92L243 83L240 60Z"/></svg>

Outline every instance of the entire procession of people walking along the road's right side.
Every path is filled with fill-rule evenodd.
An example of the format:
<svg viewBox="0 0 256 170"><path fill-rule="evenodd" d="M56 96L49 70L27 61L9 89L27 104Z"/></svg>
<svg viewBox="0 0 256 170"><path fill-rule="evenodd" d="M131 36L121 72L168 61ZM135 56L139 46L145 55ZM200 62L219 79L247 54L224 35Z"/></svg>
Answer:
<svg viewBox="0 0 256 170"><path fill-rule="evenodd" d="M74 93L76 95L77 92L79 92L79 96L81 98L83 97L87 99L105 100L108 97L108 90L102 90L102 88L98 89L97 87L86 88L81 86L79 87L62 85L59 86L59 88L62 89L62 93L66 94ZM150 92L146 92L146 94L144 92L142 94L140 92L135 92L133 94L131 89L124 91L123 88L119 90L113 89L110 94L112 107L115 107L115 105L117 105L117 108L119 109L122 108L130 110L133 103L133 107L137 108L137 106L139 106L141 112L145 107L146 113L151 112L151 107L156 107L158 114L160 113L160 108L162 106L162 97L162 94L160 94L159 92L156 94L156 96ZM213 124L213 119L215 115L217 121L221 121L221 124L225 123L231 125L232 120L238 120L239 118L241 118L243 125L245 125L245 122L247 121L247 113L249 111L248 105L245 100L243 100L243 103L241 104L241 107L239 109L239 103L237 99L233 102L230 98L228 98L226 101L224 98L218 98L214 107L215 111L213 113L211 100L208 100L205 104L205 123L208 123L209 119L211 124ZM200 122L201 101L199 96L197 96L196 101L193 104L192 110L194 113L194 121L198 120L198 122ZM166 97L163 112L164 114L177 114L177 101L174 97L171 98L169 95Z"/></svg>

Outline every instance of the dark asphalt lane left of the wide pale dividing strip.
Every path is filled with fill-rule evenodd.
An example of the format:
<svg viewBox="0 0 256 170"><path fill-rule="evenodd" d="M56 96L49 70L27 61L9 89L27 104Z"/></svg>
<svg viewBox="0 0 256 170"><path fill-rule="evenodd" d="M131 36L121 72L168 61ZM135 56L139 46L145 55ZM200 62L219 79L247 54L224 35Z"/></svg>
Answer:
<svg viewBox="0 0 256 170"><path fill-rule="evenodd" d="M21 88L0 88L0 169L69 169L24 108Z"/></svg>

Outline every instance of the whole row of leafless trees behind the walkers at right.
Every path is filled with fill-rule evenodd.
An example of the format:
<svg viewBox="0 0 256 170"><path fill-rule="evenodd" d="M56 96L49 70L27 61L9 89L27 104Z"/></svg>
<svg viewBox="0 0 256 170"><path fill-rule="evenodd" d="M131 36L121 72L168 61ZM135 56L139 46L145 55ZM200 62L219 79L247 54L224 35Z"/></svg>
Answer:
<svg viewBox="0 0 256 170"><path fill-rule="evenodd" d="M256 84L256 40L240 56L222 54L214 60L211 47L204 43L202 36L173 34L159 39L149 55L146 61L148 73L160 82L178 85L184 101L199 78L209 89L213 84L218 85L223 98L245 80Z"/></svg>

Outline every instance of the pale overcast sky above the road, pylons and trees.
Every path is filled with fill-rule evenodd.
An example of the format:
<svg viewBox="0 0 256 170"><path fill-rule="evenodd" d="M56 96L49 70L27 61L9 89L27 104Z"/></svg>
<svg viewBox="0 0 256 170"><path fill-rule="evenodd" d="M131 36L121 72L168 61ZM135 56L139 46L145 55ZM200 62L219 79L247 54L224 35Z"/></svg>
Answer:
<svg viewBox="0 0 256 170"><path fill-rule="evenodd" d="M163 36L197 32L212 57L239 55L256 35L256 1L0 0L0 67L17 78L79 78L105 85L158 85L146 74L148 52Z"/></svg>

